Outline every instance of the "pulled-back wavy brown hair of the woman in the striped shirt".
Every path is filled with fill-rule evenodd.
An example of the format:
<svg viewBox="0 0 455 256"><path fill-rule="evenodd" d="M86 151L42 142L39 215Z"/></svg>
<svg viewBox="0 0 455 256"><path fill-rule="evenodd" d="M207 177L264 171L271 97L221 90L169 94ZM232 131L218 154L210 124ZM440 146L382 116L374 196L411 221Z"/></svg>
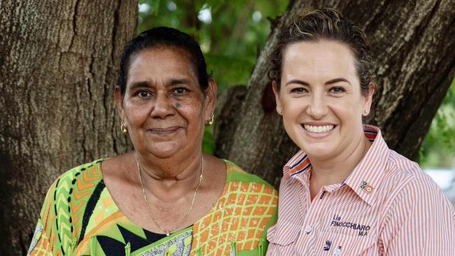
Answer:
<svg viewBox="0 0 455 256"><path fill-rule="evenodd" d="M300 15L288 29L281 33L278 43L269 57L272 62L269 79L276 81L279 89L283 52L288 45L302 41L320 40L346 43L351 48L362 94L369 94L369 85L374 81L374 75L367 36L362 29L331 8L316 9Z"/></svg>

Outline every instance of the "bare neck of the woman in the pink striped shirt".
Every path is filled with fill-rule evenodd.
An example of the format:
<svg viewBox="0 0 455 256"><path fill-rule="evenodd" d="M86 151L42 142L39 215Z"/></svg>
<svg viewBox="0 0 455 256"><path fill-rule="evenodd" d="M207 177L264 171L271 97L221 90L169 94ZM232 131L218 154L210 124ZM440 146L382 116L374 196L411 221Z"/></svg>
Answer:
<svg viewBox="0 0 455 256"><path fill-rule="evenodd" d="M342 183L346 180L360 160L363 159L370 146L370 141L361 134L357 143L353 143L351 148L346 148L341 155L331 159L318 159L308 156L311 162L311 191L317 193L322 186Z"/></svg>

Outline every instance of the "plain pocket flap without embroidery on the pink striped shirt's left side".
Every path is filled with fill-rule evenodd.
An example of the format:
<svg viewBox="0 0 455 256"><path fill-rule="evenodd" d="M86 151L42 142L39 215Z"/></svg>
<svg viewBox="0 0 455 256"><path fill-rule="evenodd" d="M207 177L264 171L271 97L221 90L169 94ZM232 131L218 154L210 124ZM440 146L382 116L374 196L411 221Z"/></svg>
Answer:
<svg viewBox="0 0 455 256"><path fill-rule="evenodd" d="M273 246L282 252L286 248L294 245L295 241L299 238L301 231L302 227L300 227L300 225L295 225L286 221L277 222L276 225L269 228L269 232L267 232L269 247Z"/></svg>

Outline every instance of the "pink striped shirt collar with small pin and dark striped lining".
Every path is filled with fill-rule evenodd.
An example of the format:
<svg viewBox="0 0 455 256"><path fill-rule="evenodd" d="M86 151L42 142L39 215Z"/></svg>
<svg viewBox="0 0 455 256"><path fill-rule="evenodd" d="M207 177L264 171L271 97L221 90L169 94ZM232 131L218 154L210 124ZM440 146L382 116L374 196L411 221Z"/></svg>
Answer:
<svg viewBox="0 0 455 256"><path fill-rule="evenodd" d="M360 160L343 183L325 187L340 187L346 184L371 206L374 203L374 194L377 194L376 191L381 184L389 149L378 127L364 125L363 131L365 136L372 141L365 157ZM309 177L309 171L311 171L309 158L305 152L300 150L283 167L283 178L298 178L302 175Z"/></svg>

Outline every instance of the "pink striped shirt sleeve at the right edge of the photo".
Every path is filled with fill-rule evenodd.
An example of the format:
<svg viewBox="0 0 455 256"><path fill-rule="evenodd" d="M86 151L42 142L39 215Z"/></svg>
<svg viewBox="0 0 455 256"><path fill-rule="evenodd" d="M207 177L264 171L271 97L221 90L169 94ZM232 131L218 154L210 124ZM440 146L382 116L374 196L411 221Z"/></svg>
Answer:
<svg viewBox="0 0 455 256"><path fill-rule="evenodd" d="M400 188L381 230L384 255L455 255L455 213L430 178Z"/></svg>

